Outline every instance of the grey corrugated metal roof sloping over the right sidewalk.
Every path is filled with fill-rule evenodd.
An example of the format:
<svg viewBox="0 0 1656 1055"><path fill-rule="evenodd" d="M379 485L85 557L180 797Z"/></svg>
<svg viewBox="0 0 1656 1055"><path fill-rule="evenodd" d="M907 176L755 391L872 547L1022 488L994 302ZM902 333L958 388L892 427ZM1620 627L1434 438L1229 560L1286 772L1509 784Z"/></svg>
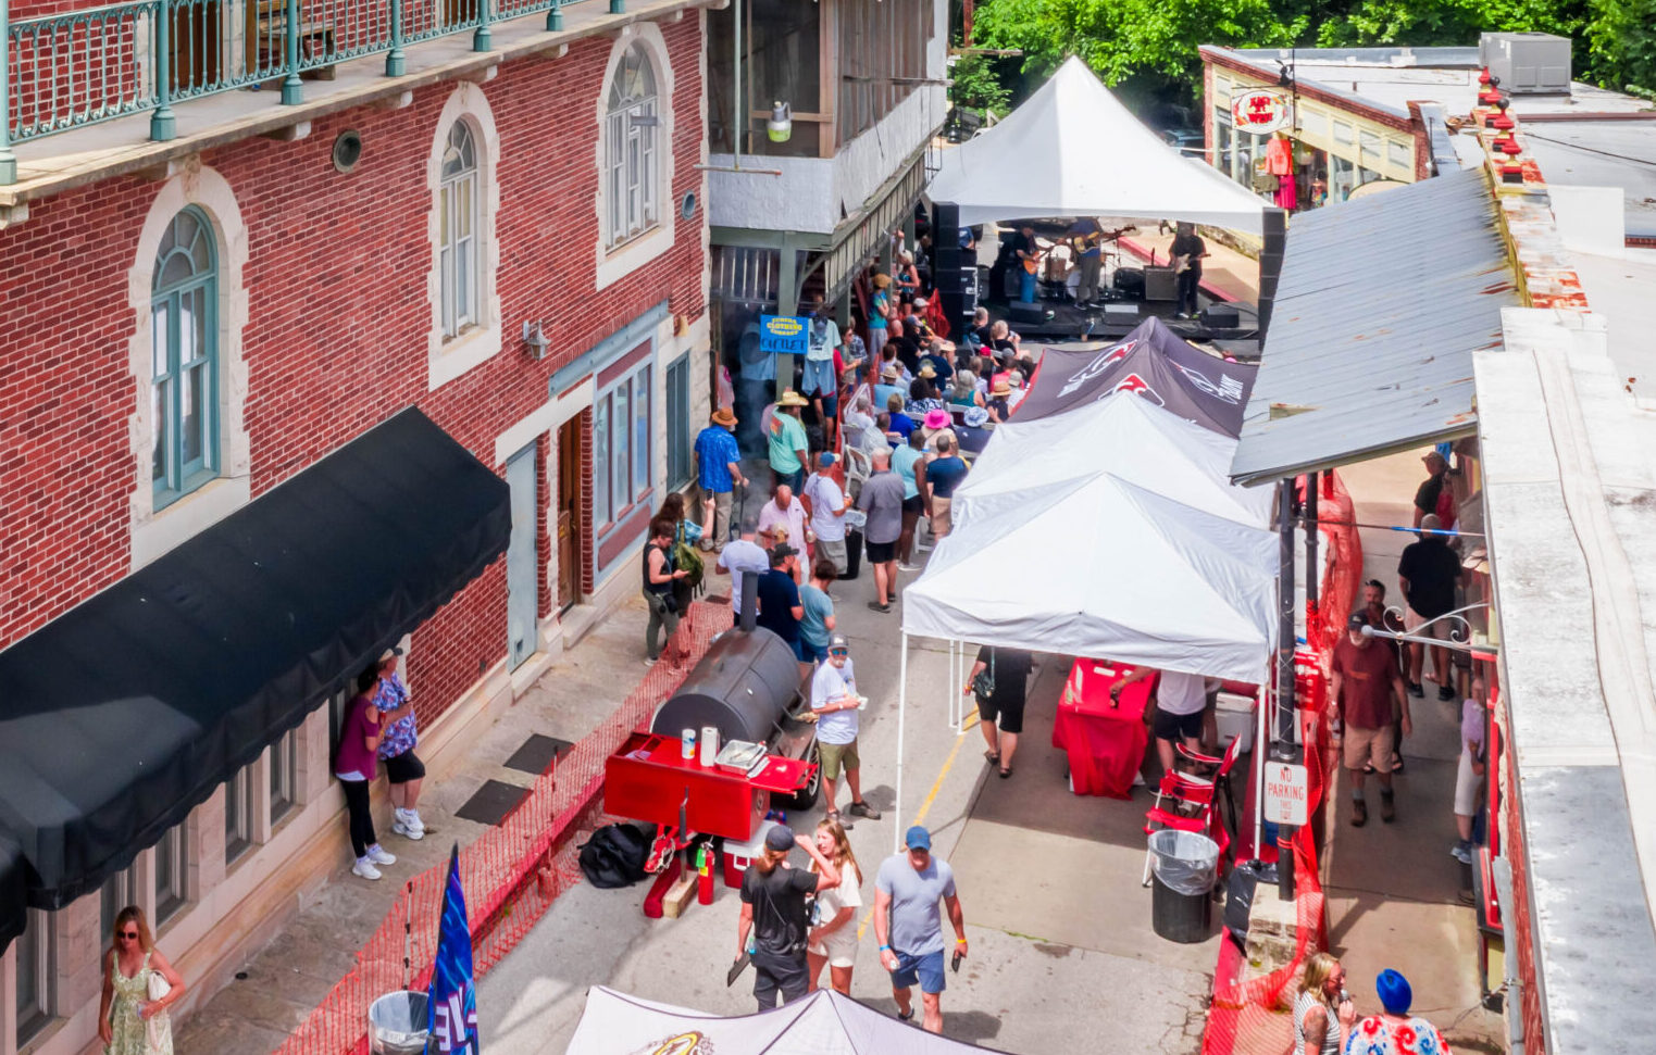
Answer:
<svg viewBox="0 0 1656 1055"><path fill-rule="evenodd" d="M1472 352L1519 304L1482 170L1293 217L1230 463L1264 483L1467 435Z"/></svg>

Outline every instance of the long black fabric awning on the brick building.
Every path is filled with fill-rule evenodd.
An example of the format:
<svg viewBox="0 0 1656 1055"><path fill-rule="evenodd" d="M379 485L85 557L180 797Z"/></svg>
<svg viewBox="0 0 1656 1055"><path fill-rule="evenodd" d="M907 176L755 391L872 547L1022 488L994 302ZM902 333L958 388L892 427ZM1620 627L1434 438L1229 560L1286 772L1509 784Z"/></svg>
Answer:
<svg viewBox="0 0 1656 1055"><path fill-rule="evenodd" d="M510 529L507 485L409 408L0 652L0 837L28 905L131 863ZM0 934L22 908L0 901Z"/></svg>

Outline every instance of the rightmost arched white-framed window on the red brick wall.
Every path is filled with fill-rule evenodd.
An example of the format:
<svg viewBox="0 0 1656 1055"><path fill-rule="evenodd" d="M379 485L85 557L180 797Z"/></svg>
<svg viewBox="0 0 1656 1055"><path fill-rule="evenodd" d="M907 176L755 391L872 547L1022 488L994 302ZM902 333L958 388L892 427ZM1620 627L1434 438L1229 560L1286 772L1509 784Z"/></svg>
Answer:
<svg viewBox="0 0 1656 1055"><path fill-rule="evenodd" d="M656 69L639 41L633 41L616 64L606 112L604 197L609 215L604 243L614 246L647 232L659 220Z"/></svg>

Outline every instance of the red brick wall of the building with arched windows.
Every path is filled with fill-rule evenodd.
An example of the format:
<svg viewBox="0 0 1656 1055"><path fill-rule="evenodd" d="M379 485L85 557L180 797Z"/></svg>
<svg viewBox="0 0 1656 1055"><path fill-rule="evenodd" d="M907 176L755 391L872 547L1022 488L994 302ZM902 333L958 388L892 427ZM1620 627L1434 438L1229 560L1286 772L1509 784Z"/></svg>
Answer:
<svg viewBox="0 0 1656 1055"><path fill-rule="evenodd" d="M704 313L702 212L687 222L676 208L702 182L694 167L700 18L661 28L676 81L674 187L662 202L664 222L677 225L672 250L593 291L596 112L611 41L503 64L482 89L500 136L502 351L437 392L427 392L427 157L452 83L417 89L404 109L316 121L298 142L250 139L200 159L229 180L248 230L245 417L255 498L409 403L493 465L495 437L546 402L558 367L662 299L691 319ZM344 129L363 137L351 174L330 162ZM128 365L128 273L157 187L106 180L35 203L26 223L0 232L0 332L8 334L0 357L0 647L129 567L136 470L128 432L141 387ZM546 322L551 349L542 362L520 349L525 319ZM590 415L581 423L588 428ZM537 445L543 483L545 448ZM583 466L590 458L583 440ZM585 468L583 476L590 481ZM540 536L545 569L545 526ZM591 589L590 569L583 579ZM411 676L426 716L505 655L505 597L500 561L416 632ZM550 597L537 607L548 610Z"/></svg>

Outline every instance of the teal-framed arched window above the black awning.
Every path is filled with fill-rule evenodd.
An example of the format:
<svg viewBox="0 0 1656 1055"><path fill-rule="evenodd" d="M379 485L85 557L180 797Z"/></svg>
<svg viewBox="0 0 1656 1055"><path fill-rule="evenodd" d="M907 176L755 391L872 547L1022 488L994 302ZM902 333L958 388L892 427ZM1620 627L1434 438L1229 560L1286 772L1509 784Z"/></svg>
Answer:
<svg viewBox="0 0 1656 1055"><path fill-rule="evenodd" d="M151 281L156 509L219 475L219 246L194 205L172 218Z"/></svg>

